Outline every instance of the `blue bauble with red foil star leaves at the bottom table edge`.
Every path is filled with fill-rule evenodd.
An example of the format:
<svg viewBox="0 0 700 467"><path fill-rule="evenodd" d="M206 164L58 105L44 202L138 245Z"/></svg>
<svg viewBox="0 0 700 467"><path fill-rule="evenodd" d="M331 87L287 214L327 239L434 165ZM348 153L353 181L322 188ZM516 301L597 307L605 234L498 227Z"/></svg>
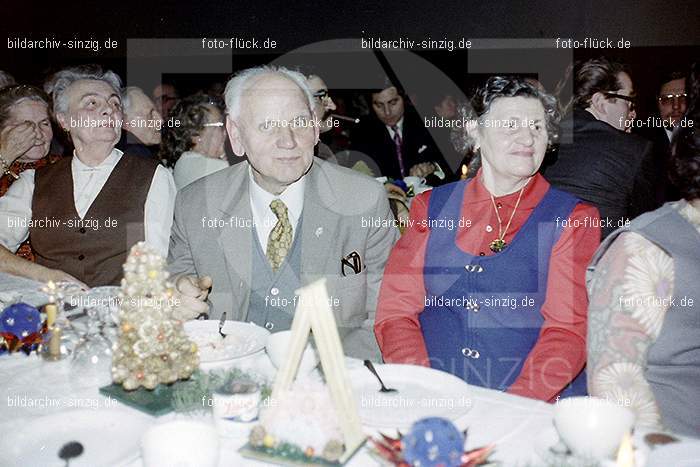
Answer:
<svg viewBox="0 0 700 467"><path fill-rule="evenodd" d="M418 420L405 435L384 434L370 438L373 453L397 467L475 467L488 463L494 446L464 451L467 432L460 433L449 420L430 417Z"/></svg>

